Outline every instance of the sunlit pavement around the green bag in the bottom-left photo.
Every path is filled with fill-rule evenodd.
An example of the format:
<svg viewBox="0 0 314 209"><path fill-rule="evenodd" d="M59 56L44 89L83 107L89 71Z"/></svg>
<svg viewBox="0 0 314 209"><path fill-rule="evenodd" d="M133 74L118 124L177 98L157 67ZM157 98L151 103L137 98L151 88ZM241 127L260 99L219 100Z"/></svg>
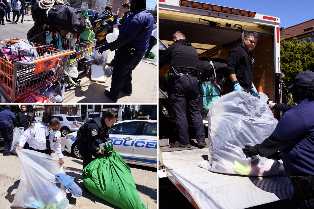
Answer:
<svg viewBox="0 0 314 209"><path fill-rule="evenodd" d="M64 147L64 138L62 138L62 147ZM67 175L73 176L74 181L80 188L83 188L82 180L82 165L83 160L76 159L72 154L63 151L64 164L63 169ZM14 199L16 189L20 181L19 172L19 157L5 156L3 157L3 150L0 151L0 209L8 209ZM57 157L57 153L52 154ZM133 179L136 184L138 195L147 209L157 208L157 170L145 166L130 165ZM83 190L81 197L75 197L67 191L67 197L71 208L93 209L93 208L115 208L93 194L88 194ZM13 207L18 209L17 207Z"/></svg>

